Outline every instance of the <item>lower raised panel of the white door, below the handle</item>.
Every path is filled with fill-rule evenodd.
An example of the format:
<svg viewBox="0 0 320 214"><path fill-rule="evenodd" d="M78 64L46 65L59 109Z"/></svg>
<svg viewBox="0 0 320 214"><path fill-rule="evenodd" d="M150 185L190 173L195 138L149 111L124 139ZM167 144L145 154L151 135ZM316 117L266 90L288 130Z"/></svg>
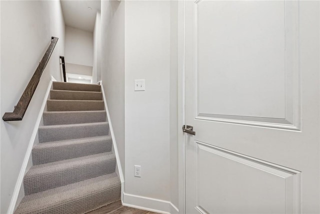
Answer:
<svg viewBox="0 0 320 214"><path fill-rule="evenodd" d="M300 172L194 142L194 186L200 213L294 213Z"/></svg>

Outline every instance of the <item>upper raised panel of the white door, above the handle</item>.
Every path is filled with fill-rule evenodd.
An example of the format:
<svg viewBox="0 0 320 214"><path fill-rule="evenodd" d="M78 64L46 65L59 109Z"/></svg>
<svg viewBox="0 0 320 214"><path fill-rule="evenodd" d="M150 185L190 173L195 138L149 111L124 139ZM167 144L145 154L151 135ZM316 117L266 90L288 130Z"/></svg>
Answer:
<svg viewBox="0 0 320 214"><path fill-rule="evenodd" d="M195 118L299 129L295 2L194 3Z"/></svg>

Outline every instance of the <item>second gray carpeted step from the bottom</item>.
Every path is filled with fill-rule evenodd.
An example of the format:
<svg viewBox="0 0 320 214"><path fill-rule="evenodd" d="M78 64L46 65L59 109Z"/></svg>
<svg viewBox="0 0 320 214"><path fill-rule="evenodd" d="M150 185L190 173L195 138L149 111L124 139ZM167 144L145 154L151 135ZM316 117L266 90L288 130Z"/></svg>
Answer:
<svg viewBox="0 0 320 214"><path fill-rule="evenodd" d="M24 175L24 193L63 186L115 171L115 156L99 153L32 166Z"/></svg>

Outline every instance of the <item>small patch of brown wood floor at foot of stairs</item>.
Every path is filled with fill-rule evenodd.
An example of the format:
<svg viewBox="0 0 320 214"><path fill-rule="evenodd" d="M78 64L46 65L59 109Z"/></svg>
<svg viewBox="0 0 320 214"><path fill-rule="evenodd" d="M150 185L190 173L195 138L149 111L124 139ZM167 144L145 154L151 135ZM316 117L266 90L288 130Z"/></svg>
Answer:
<svg viewBox="0 0 320 214"><path fill-rule="evenodd" d="M114 203L110 203L94 211L88 212L86 214L157 214L156 212L145 211L141 209L135 209L127 206L122 206L121 200Z"/></svg>

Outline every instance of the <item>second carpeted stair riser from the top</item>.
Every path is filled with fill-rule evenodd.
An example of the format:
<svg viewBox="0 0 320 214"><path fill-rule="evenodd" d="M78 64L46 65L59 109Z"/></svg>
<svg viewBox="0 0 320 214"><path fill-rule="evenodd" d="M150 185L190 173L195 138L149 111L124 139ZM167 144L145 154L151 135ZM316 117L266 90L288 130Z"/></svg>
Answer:
<svg viewBox="0 0 320 214"><path fill-rule="evenodd" d="M102 92L50 91L51 100L102 100Z"/></svg>

